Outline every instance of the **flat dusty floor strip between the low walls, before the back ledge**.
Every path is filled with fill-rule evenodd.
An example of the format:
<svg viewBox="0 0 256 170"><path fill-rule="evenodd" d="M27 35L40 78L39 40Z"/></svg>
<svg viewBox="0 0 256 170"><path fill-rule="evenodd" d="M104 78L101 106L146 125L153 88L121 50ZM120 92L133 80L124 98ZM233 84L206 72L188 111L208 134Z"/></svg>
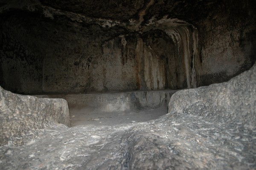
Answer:
<svg viewBox="0 0 256 170"><path fill-rule="evenodd" d="M131 112L86 112L84 109L70 108L72 127L89 124L115 126L118 124L144 122L157 119L166 113L166 107Z"/></svg>

